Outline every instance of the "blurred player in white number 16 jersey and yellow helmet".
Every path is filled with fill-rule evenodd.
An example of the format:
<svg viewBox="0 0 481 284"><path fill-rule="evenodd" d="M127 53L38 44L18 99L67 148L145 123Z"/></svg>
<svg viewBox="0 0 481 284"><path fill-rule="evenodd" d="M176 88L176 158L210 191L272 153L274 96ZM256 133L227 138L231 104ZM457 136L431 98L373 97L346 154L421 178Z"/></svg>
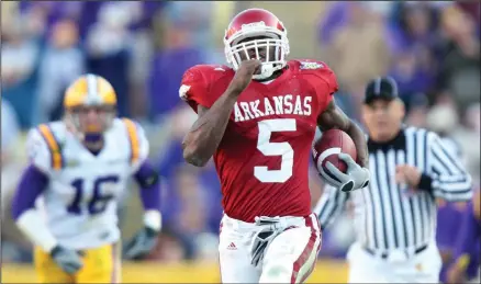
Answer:
<svg viewBox="0 0 481 284"><path fill-rule="evenodd" d="M36 247L42 283L119 283L116 206L132 177L142 188L145 228L127 243L126 255L148 253L160 230L158 174L147 162L148 141L138 124L115 118L115 92L99 76L76 80L64 106L63 121L29 134L31 162L13 216ZM35 206L38 196L42 206Z"/></svg>

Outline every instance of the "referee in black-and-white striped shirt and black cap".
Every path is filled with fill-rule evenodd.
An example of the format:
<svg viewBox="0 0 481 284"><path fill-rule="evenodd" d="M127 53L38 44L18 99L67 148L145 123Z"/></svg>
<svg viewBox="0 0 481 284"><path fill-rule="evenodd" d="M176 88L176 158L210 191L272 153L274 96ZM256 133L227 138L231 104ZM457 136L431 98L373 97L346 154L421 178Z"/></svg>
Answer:
<svg viewBox="0 0 481 284"><path fill-rule="evenodd" d="M471 178L457 158L435 133L403 125L404 113L392 78L369 82L362 118L370 184L350 193L326 186L314 211L325 228L353 203L350 283L439 283L436 200L472 196Z"/></svg>

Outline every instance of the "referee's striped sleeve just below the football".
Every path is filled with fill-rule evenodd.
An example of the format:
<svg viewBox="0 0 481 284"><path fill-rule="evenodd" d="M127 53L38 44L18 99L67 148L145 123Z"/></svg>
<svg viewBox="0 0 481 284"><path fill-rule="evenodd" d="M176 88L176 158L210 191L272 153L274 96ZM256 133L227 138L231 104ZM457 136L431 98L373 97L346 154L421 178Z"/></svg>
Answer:
<svg viewBox="0 0 481 284"><path fill-rule="evenodd" d="M349 193L342 192L331 185L324 188L323 195L314 208L321 223L321 229L325 229L339 216L348 200Z"/></svg>

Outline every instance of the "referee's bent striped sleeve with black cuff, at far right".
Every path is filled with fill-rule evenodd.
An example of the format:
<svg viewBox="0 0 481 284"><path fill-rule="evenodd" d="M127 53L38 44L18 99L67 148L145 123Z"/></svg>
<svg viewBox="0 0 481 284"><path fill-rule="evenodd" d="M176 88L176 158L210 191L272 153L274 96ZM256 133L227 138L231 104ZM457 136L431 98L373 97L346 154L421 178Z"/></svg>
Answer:
<svg viewBox="0 0 481 284"><path fill-rule="evenodd" d="M422 174L420 189L428 190L435 197L456 202L472 197L471 177L439 137L428 134L432 157L432 174Z"/></svg>

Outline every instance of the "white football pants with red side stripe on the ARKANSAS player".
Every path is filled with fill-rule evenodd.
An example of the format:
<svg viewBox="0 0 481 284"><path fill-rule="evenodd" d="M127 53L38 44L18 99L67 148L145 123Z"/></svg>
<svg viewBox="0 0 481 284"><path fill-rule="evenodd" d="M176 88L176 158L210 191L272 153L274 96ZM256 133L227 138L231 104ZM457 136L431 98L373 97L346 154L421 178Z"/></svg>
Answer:
<svg viewBox="0 0 481 284"><path fill-rule="evenodd" d="M317 216L281 217L281 231L264 252L258 266L251 264L251 247L266 226L224 215L221 221L219 259L222 283L302 283L312 273L321 248Z"/></svg>

